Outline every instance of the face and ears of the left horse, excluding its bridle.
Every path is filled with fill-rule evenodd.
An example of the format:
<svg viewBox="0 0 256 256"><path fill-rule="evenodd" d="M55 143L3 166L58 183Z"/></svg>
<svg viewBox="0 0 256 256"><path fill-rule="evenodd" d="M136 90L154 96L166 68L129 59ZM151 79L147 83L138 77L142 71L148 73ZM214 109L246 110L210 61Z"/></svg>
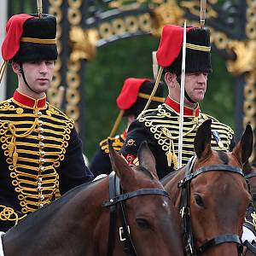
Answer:
<svg viewBox="0 0 256 256"><path fill-rule="evenodd" d="M111 146L109 151L113 171L120 179L123 192L142 192L124 203L137 254L184 255L178 212L168 196L154 194L154 191L164 191L164 188L147 143L143 143L138 151L140 165L132 168ZM143 194L145 190L153 193Z"/></svg>

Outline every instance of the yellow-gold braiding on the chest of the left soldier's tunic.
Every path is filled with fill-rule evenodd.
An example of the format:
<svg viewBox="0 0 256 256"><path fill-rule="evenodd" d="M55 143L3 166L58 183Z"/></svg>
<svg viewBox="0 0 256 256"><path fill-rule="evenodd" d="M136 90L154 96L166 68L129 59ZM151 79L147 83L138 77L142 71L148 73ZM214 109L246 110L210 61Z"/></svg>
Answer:
<svg viewBox="0 0 256 256"><path fill-rule="evenodd" d="M40 108L40 114L35 109L20 106L13 99L0 104L0 142L24 214L38 210L55 196L59 186L56 168L65 158L74 124L72 119L48 102L46 108ZM41 155L42 151L44 154ZM15 152L19 153L18 162ZM13 215L11 218L16 217Z"/></svg>

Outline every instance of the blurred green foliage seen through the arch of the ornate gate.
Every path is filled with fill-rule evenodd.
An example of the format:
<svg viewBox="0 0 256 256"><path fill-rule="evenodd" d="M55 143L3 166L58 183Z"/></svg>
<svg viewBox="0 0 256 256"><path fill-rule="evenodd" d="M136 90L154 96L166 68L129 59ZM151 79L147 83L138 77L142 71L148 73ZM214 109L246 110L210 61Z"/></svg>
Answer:
<svg viewBox="0 0 256 256"><path fill-rule="evenodd" d="M96 59L86 66L85 154L91 160L98 143L108 137L119 113L115 100L127 77L152 78L152 50L159 38L129 38L98 49ZM207 96L201 110L235 126L234 83L224 60L212 54ZM125 129L125 122L119 132Z"/></svg>

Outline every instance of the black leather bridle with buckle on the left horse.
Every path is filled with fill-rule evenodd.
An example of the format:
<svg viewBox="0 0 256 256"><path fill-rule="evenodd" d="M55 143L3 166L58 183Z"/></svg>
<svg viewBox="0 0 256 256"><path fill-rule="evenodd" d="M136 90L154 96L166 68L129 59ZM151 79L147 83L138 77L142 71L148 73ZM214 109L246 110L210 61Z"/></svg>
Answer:
<svg viewBox="0 0 256 256"><path fill-rule="evenodd" d="M119 209L119 217L121 220L121 226L119 227L119 238L123 242L125 253L130 256L136 256L136 248L131 240L130 227L127 223L124 201L138 196L138 195L164 195L169 197L168 193L164 189L137 189L129 193L122 194L120 187L119 177L115 175L115 172L109 174L109 200L102 203L103 207L109 207L110 220L109 220L109 232L108 232L108 256L113 254L113 241L116 230L116 218Z"/></svg>

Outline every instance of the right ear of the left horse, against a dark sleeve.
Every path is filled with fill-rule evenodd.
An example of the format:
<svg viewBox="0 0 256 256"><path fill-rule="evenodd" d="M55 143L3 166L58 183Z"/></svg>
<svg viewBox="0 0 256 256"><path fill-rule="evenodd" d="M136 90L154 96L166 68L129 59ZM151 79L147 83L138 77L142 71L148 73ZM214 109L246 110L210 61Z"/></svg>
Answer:
<svg viewBox="0 0 256 256"><path fill-rule="evenodd" d="M152 154L146 141L143 141L143 143L141 143L140 145L140 148L138 150L138 160L140 166L151 172L154 175L154 177L158 177L155 169L154 154Z"/></svg>

